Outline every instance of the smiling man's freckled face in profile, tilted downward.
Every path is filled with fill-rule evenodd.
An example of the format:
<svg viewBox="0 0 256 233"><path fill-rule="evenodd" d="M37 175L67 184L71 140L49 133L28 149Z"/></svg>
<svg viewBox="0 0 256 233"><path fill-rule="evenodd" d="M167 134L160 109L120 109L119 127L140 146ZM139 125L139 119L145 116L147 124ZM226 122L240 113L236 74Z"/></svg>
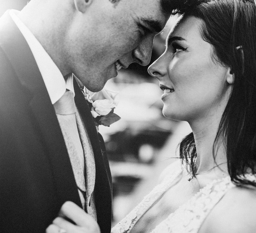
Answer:
<svg viewBox="0 0 256 233"><path fill-rule="evenodd" d="M94 0L76 12L69 31L67 60L71 71L91 91L100 91L117 69L150 61L155 35L169 15L156 0Z"/></svg>

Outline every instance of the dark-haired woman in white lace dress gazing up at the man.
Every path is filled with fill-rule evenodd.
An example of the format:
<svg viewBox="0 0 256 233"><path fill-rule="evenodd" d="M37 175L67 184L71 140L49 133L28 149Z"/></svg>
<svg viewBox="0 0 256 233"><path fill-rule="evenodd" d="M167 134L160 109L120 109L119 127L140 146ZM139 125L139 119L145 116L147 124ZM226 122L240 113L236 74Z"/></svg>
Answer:
<svg viewBox="0 0 256 233"><path fill-rule="evenodd" d="M193 133L180 143L182 163L112 232L255 232L255 3L176 2L182 17L149 73L164 91L164 116Z"/></svg>

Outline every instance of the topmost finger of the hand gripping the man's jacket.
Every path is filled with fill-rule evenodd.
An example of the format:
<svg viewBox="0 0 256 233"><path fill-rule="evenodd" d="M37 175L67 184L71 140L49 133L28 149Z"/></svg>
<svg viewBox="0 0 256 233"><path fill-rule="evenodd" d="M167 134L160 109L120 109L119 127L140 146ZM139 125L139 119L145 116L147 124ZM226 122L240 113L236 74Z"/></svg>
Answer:
<svg viewBox="0 0 256 233"><path fill-rule="evenodd" d="M76 205L74 202L66 201L59 212L60 216L67 217L76 223L78 226L88 226L87 223L93 223L96 221L87 214L82 208Z"/></svg>

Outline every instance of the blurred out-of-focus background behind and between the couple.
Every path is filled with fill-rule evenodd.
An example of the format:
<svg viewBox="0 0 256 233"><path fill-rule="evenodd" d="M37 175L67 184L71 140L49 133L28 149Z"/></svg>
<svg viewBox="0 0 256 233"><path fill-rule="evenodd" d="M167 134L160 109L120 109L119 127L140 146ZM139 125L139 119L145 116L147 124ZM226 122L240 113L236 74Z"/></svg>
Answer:
<svg viewBox="0 0 256 233"><path fill-rule="evenodd" d="M0 0L0 15L7 9L21 10L26 3ZM155 37L150 64L164 52L165 39L175 20L171 17L163 33ZM163 91L147 68L132 64L106 84L106 89L119 92L115 113L121 117L110 127L99 127L113 178L113 225L157 184L161 171L179 156L178 143L191 132L186 122L162 115Z"/></svg>

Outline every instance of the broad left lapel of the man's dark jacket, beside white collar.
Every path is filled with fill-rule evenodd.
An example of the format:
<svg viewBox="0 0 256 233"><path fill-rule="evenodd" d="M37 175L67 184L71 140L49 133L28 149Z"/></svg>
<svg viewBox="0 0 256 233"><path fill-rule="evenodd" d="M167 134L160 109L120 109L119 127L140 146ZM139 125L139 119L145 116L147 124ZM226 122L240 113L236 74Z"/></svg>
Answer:
<svg viewBox="0 0 256 233"><path fill-rule="evenodd" d="M81 206L68 152L42 76L31 50L9 15L1 20L0 47L7 55L20 83L31 93L30 108L35 116L52 170L60 207L70 200ZM18 49L17 49L18 48Z"/></svg>

